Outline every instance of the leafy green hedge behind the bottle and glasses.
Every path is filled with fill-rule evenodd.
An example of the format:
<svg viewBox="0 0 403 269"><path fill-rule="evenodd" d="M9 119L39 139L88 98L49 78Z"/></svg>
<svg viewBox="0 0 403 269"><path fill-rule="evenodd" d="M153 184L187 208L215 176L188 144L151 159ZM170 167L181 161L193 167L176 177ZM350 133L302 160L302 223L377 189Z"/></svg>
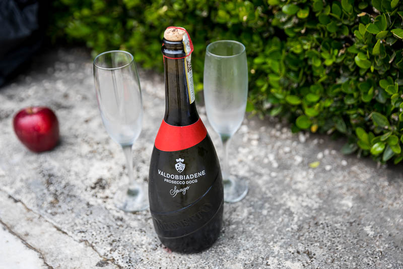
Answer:
<svg viewBox="0 0 403 269"><path fill-rule="evenodd" d="M403 159L403 3L62 0L49 34L82 41L93 55L133 52L143 68L162 69L167 26L185 27L194 44L193 76L203 89L209 42L247 47L249 101L259 115L287 117L292 130L344 135L344 153L381 162Z"/></svg>

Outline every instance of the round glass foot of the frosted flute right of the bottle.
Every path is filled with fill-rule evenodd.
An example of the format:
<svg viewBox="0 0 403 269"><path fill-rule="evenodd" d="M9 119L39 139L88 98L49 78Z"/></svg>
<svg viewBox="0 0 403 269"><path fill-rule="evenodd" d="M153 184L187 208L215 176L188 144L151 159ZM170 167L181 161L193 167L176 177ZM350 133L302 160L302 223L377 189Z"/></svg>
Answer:
<svg viewBox="0 0 403 269"><path fill-rule="evenodd" d="M238 202L248 193L248 183L246 180L230 176L228 179L223 180L223 184L224 201L227 203Z"/></svg>

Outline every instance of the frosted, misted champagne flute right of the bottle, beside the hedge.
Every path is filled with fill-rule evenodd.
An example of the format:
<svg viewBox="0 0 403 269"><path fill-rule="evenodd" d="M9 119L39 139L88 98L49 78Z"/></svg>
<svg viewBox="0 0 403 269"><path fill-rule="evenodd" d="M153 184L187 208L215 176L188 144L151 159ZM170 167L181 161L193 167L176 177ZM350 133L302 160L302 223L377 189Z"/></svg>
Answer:
<svg viewBox="0 0 403 269"><path fill-rule="evenodd" d="M228 147L245 115L248 93L245 46L233 40L209 44L203 80L207 118L223 144L224 201L237 202L245 197L248 185L244 179L230 174Z"/></svg>

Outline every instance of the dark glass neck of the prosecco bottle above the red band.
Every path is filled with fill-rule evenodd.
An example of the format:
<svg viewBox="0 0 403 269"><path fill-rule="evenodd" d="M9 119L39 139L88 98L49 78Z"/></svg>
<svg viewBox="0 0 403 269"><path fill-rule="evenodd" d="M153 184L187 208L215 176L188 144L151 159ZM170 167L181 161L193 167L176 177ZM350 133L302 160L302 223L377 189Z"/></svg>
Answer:
<svg viewBox="0 0 403 269"><path fill-rule="evenodd" d="M163 40L162 54L164 57L165 77L165 116L164 121L173 126L187 126L195 123L199 116L195 102L190 102L188 81L185 69L186 56L183 44L180 41L173 42ZM169 57L169 58L167 58Z"/></svg>

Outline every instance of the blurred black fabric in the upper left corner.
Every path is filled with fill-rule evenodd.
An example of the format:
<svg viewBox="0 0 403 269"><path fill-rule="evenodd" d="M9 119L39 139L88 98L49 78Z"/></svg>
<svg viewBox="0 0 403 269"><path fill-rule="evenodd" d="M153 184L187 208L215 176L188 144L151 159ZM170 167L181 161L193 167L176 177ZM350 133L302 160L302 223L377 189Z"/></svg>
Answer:
<svg viewBox="0 0 403 269"><path fill-rule="evenodd" d="M0 86L39 49L39 1L0 0Z"/></svg>

